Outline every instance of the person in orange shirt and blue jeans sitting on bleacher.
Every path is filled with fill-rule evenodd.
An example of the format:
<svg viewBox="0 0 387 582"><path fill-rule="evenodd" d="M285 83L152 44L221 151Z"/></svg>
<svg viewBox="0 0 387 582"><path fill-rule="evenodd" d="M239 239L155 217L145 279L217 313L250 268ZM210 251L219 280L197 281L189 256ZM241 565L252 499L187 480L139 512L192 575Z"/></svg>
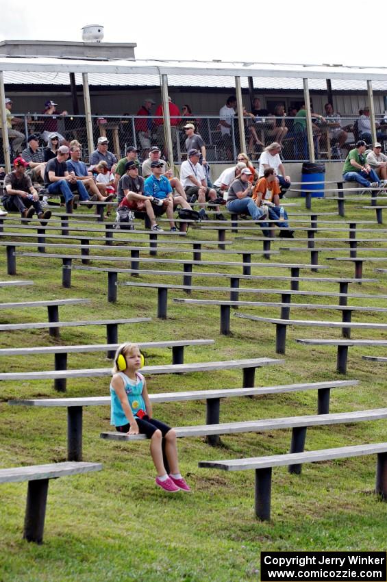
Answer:
<svg viewBox="0 0 387 582"><path fill-rule="evenodd" d="M279 236L282 238L294 238L294 232L289 229L288 214L284 207L279 205L279 194L281 187L278 184L275 176L274 168L266 168L264 175L255 184L253 190L253 200L258 207L267 205L269 210L269 218L276 220L276 225L281 229Z"/></svg>

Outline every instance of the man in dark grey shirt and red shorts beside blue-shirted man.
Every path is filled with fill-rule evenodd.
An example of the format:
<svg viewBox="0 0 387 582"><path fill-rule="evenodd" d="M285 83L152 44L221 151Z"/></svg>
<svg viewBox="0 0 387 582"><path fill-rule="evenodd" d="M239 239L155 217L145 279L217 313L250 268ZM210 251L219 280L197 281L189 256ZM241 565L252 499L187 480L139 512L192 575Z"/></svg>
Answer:
<svg viewBox="0 0 387 582"><path fill-rule="evenodd" d="M144 178L138 175L138 163L131 160L125 164L125 174L118 181L118 201L132 212L146 212L151 221L151 230L162 232L156 223L153 205L156 199L144 195Z"/></svg>

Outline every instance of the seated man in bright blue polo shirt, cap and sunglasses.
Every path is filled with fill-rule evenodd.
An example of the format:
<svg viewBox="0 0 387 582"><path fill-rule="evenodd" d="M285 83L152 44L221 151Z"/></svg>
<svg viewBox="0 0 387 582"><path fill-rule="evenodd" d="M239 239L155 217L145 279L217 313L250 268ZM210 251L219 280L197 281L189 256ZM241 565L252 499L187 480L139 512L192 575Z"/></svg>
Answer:
<svg viewBox="0 0 387 582"><path fill-rule="evenodd" d="M152 175L145 180L144 194L153 198L153 212L155 216L161 216L166 212L169 218L171 231L176 231L175 220L173 220L174 205L181 205L182 208L192 210L185 197L176 196L173 198L173 188L170 181L163 175L164 166L162 160L155 160L151 163ZM161 203L160 203L161 202Z"/></svg>

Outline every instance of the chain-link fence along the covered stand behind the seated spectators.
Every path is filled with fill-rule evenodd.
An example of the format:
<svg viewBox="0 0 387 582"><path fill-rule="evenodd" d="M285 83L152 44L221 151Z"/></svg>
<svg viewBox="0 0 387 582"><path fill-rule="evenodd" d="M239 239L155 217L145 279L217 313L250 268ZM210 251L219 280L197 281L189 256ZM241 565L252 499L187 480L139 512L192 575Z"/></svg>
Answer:
<svg viewBox="0 0 387 582"><path fill-rule="evenodd" d="M82 159L88 163L90 152L84 115L15 115L20 123L9 130L11 156L26 147L26 137L38 134L40 147L47 147L51 134L58 134L62 143L77 140L82 144ZM326 118L312 119L314 152L319 160L345 160L349 149L358 139L372 143L371 124L366 128L366 120L359 116L338 116L333 114ZM377 140L382 143L382 151L387 149L387 116L377 116ZM240 147L238 118L234 118L231 127L221 125L219 116L184 116L171 117L171 134L173 140L173 160L180 164L186 160L187 123L195 126L205 146L206 158L210 164L232 164L235 162ZM109 150L119 159L125 157L128 146L139 150L140 160L148 157L149 149L157 145L164 155L165 149L164 120L155 116L92 116L93 142L103 136L109 140ZM308 162L309 147L305 117L266 116L255 117L247 114L244 121L246 153L257 162L260 153L272 142L282 145L284 162ZM17 134L17 135L16 135ZM15 145L17 147L15 147ZM1 162L2 160L1 153Z"/></svg>

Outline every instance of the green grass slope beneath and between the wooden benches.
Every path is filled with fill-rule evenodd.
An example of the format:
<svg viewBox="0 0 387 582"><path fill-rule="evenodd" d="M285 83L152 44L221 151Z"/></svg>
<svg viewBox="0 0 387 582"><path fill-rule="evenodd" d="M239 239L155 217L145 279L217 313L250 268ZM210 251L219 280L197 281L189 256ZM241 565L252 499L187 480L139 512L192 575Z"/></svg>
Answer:
<svg viewBox="0 0 387 582"><path fill-rule="evenodd" d="M349 218L375 220L373 210L360 211L364 202L347 203ZM300 212L305 212L303 205ZM336 210L336 203L313 201L313 211ZM292 209L291 212L296 212ZM87 212L85 211L87 214ZM329 217L339 220L338 217ZM360 218L359 218L360 219ZM291 223L291 219L290 219ZM326 226L326 225L324 225ZM335 225L340 226L340 225ZM359 233L358 238L380 238L384 246L383 226L371 227L371 233ZM258 236L260 228L257 227ZM131 233L132 234L132 233ZM261 242L234 239L232 249L261 249ZM125 236L125 233L120 236ZM305 232L301 235L305 236ZM316 236L343 238L343 232L323 231ZM17 240L16 236L14 236ZM116 240L119 237L114 236ZM216 233L190 229L188 238L216 240ZM22 240L22 239L20 239ZM145 246L148 237L142 236ZM49 242L49 238L47 238ZM57 242L52 240L52 242ZM173 238L171 238L173 244ZM332 244L328 243L329 246ZM366 246L377 246L369 243ZM184 245L186 246L186 245ZM302 246L299 242L276 240L272 248ZM306 246L306 244L305 244ZM317 246L321 246L319 243ZM353 277L350 262L327 261L328 256L349 256L342 242L342 253L321 253L319 261L328 266L314 276ZM31 244L23 250L36 250ZM48 252L51 252L47 249ZM58 252L58 251L55 251ZM68 253L68 249L63 249ZM95 254L101 255L99 249ZM92 254L92 253L90 253ZM106 254L123 255L110 246ZM382 253L366 253L380 256ZM148 256L148 255L145 255ZM159 253L159 257L167 257ZM240 261L236 255L219 255L216 248L204 260ZM192 253L173 253L173 258L192 258ZM253 258L264 262L261 257ZM75 270L73 287L61 286L61 261L18 257L17 279L33 279L35 285L21 288L0 288L0 301L38 301L44 299L84 298L90 305L60 307L60 320L108 319L147 316L144 324L118 328L121 341L158 341L210 338L212 346L188 347L185 362L205 362L248 357L282 357L275 353L275 326L242 320L232 316L232 336L219 334L219 307L192 307L173 303L173 297L184 297L184 291L168 292L168 319L156 318L157 294L151 288L120 286L116 304L107 301L107 275ZM309 263L310 253L282 251L270 262ZM0 249L1 276L7 279L5 251ZM108 266L108 263L92 263ZM145 264L144 264L145 265ZM114 266L121 264L114 263ZM126 264L128 267L129 265ZM349 292L386 294L386 275L375 274L375 267L384 263L364 264L364 277L376 277L375 283L349 285ZM387 260L386 260L387 267ZM150 265L145 268L152 268ZM156 266L155 268L163 268ZM182 270L180 265L165 269ZM238 267L195 267L224 273L241 273ZM290 275L284 268L252 268L256 275ZM310 276L310 271L301 272ZM129 280L120 275L119 280ZM164 281L182 283L182 277L152 277L143 275L134 281ZM227 283L226 283L227 281ZM228 279L195 277L195 285L228 286ZM240 281L241 287L267 288L267 293L241 294L247 301L279 301L270 288L289 288L286 281ZM300 283L301 290L313 290L316 296L294 296L292 303L337 304L338 299L319 295L320 291L338 292L336 283ZM227 299L219 291L192 292L194 299ZM351 305L386 307L386 300L349 299ZM240 308L240 312L261 316L279 316L278 308ZM340 312L319 309L292 309L290 317L338 321ZM3 323L45 321L47 310L1 310ZM387 313L353 312L353 321L385 322ZM352 338L386 339L377 329L352 330ZM79 327L60 331L60 340L50 338L47 329L3 332L0 347L45 346L54 344L90 344L105 342L105 327ZM336 374L336 347L303 346L295 338L340 338L340 329L329 327L288 327L286 363L257 370L255 385L275 385L334 379L358 379L360 384L332 390L331 412L345 412L386 407L386 368L383 364L366 362L361 355L386 355L382 348L352 347L349 349L346 377ZM170 364L168 349L145 350L147 364ZM105 353L71 354L68 368L103 368L110 366ZM51 370L53 356L1 357L2 372ZM148 377L149 392L173 392L210 388L235 388L241 385L240 370L160 375ZM0 451L1 466L43 464L66 460L66 410L10 407L10 398L58 396L53 381L22 381L1 383ZM109 394L108 378L68 380L66 396L105 396ZM154 416L173 426L203 424L205 402L188 401L154 405ZM221 422L254 420L314 414L316 392L230 398L221 403ZM308 430L307 450L386 441L386 422L360 422L357 425L316 427ZM289 475L287 469L273 470L272 520L255 519L254 472L222 472L197 467L203 459L229 459L288 452L290 430L264 433L226 435L221 446L212 448L204 439L187 438L178 441L182 473L192 487L191 494L174 496L156 488L155 471L147 442L110 442L99 438L101 431L110 430L110 408L88 407L84 410L84 460L98 461L103 471L52 480L45 523L45 543L42 546L22 540L26 483L0 487L0 582L242 582L260 580L260 551L380 551L387 542L387 504L373 495L375 456L306 464L302 475Z"/></svg>

